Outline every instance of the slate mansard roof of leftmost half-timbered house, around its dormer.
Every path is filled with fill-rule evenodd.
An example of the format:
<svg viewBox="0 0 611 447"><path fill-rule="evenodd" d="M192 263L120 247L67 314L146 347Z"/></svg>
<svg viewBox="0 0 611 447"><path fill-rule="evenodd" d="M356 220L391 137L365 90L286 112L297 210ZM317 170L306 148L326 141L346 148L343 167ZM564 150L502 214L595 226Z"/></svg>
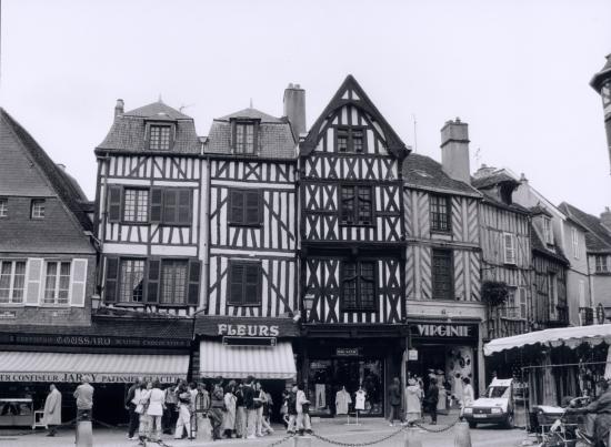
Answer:
<svg viewBox="0 0 611 447"><path fill-rule="evenodd" d="M201 152L193 119L159 101L114 116L110 131L97 150L148 152L144 136L147 122L151 121L173 122L177 126L172 149L156 151L156 153L199 154Z"/></svg>

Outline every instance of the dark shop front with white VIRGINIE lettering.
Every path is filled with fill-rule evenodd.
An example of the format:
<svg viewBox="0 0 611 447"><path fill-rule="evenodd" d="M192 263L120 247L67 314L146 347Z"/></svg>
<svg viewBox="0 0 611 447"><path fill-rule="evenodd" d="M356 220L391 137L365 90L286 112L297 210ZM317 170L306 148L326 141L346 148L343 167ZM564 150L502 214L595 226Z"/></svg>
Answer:
<svg viewBox="0 0 611 447"><path fill-rule="evenodd" d="M431 375L443 384L448 396L461 395L468 377L478 389L479 325L468 322L410 321L408 377L419 377L428 387ZM448 404L450 402L448 400Z"/></svg>

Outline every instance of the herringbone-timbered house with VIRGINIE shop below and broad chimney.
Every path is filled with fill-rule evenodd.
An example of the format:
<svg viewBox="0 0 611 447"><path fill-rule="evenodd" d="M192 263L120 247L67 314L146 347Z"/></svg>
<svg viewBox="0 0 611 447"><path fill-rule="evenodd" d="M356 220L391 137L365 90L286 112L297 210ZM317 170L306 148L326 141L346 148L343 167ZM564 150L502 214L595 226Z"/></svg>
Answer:
<svg viewBox="0 0 611 447"><path fill-rule="evenodd" d="M442 163L414 153L403 162L407 317L418 352L407 369L469 376L483 390L482 194L470 185L467 123L449 121L441 138Z"/></svg>

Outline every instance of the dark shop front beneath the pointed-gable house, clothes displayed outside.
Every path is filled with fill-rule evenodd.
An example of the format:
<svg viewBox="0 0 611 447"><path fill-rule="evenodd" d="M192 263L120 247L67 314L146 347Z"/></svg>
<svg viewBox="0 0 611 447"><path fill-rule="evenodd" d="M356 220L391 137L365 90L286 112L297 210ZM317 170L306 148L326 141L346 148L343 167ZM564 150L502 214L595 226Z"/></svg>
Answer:
<svg viewBox="0 0 611 447"><path fill-rule="evenodd" d="M399 325L372 326L306 325L301 379L313 415L340 416L345 400L353 413L359 390L364 392L360 416L388 415L387 389L394 377L401 378L405 335Z"/></svg>

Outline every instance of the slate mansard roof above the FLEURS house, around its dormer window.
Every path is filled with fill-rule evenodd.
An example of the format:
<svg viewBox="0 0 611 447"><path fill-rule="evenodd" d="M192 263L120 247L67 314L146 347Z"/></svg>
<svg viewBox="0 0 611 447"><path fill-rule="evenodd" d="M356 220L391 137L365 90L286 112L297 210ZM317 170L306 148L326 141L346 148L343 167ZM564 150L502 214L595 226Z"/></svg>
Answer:
<svg viewBox="0 0 611 447"><path fill-rule="evenodd" d="M240 118L260 120L259 148L256 154L233 153L231 148L231 120ZM229 155L236 159L294 160L297 156L297 142L288 120L274 118L257 109L249 108L212 121L204 153Z"/></svg>

